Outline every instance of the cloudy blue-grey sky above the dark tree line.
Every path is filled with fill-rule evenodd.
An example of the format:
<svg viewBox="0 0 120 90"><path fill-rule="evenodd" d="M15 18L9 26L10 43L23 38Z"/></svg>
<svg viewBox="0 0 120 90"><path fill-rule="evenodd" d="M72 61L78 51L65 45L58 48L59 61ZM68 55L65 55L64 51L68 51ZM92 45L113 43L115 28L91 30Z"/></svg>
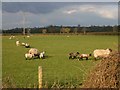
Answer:
<svg viewBox="0 0 120 90"><path fill-rule="evenodd" d="M2 28L117 25L117 2L2 2ZM117 0L116 0L117 1Z"/></svg>

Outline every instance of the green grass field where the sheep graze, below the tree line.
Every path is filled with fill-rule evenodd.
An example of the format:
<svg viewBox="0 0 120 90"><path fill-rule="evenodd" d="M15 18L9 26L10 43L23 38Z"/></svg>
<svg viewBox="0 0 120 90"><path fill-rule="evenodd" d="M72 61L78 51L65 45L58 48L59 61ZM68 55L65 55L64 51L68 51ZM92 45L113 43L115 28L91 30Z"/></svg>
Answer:
<svg viewBox="0 0 120 90"><path fill-rule="evenodd" d="M27 42L47 57L25 60L29 50L16 46L15 41ZM43 87L80 87L89 71L100 61L69 60L69 52L92 53L97 48L117 49L117 36L96 35L33 35L30 38L17 36L9 40L2 38L2 78L5 87L38 87L38 66L43 68Z"/></svg>

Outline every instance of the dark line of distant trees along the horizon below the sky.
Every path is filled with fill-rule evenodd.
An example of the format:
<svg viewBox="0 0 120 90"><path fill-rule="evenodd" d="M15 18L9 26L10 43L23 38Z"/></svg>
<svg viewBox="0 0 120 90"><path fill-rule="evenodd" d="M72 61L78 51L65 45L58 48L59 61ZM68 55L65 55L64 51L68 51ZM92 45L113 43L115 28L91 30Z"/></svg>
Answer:
<svg viewBox="0 0 120 90"><path fill-rule="evenodd" d="M23 31L24 30L24 31ZM33 27L33 28L13 28L2 30L3 34L34 34L34 33L89 33L89 32L118 32L118 26L47 26L47 27Z"/></svg>

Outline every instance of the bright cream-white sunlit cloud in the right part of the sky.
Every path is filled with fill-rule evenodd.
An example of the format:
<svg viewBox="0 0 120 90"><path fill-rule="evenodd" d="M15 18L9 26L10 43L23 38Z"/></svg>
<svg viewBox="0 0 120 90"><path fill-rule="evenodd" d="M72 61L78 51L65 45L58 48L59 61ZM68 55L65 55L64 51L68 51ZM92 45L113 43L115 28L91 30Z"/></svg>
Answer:
<svg viewBox="0 0 120 90"><path fill-rule="evenodd" d="M64 11L65 14L91 13L106 19L117 19L118 11L114 5L79 5L69 7Z"/></svg>

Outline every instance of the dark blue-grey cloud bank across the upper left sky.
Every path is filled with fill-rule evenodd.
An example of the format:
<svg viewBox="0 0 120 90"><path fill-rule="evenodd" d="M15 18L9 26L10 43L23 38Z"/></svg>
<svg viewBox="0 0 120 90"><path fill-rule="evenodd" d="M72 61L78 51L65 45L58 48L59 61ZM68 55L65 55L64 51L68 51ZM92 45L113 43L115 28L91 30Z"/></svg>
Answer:
<svg viewBox="0 0 120 90"><path fill-rule="evenodd" d="M50 13L62 7L69 5L83 5L83 4L94 4L94 5L106 5L113 3L90 3L90 2L3 2L2 10L3 12L16 13L19 11L30 12L30 13Z"/></svg>

